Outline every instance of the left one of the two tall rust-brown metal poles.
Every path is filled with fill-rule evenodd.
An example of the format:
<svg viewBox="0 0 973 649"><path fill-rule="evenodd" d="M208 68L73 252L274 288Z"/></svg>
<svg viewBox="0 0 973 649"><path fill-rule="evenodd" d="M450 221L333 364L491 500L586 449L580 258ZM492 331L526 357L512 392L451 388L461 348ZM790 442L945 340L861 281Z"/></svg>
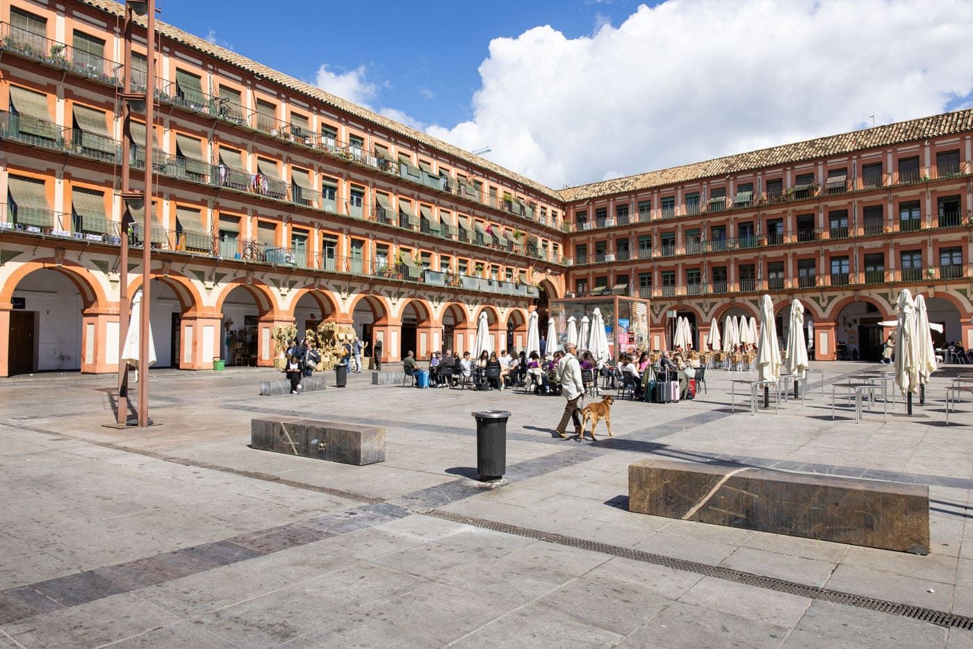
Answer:
<svg viewBox="0 0 973 649"><path fill-rule="evenodd" d="M132 26L131 5L125 6L125 57L123 61L124 79L122 92L131 90L131 26ZM127 101L122 102L122 196L127 196L130 191L129 174L131 173L128 163L131 140L128 137L128 125L131 121L131 106ZM126 205L122 205L122 217L119 223L119 238L121 239L121 253L119 254L119 393L118 411L115 414L115 422L125 425L128 420L128 364L122 361L122 354L125 351L126 337L128 336L128 226L125 219Z"/></svg>

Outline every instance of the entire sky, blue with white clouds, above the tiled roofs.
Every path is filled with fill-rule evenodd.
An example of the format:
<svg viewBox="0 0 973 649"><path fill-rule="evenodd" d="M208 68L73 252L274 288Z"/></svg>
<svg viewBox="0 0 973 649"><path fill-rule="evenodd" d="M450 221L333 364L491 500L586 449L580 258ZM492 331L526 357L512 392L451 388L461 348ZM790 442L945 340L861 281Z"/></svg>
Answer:
<svg viewBox="0 0 973 649"><path fill-rule="evenodd" d="M973 105L973 0L159 2L552 188Z"/></svg>

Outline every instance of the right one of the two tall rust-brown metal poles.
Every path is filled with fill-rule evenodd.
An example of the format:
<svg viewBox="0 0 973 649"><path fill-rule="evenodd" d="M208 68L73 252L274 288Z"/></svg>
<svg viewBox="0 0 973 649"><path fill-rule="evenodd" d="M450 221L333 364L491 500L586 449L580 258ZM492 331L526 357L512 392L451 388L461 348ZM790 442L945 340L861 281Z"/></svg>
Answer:
<svg viewBox="0 0 973 649"><path fill-rule="evenodd" d="M152 221L155 205L152 200L152 162L156 144L155 106L156 95L156 0L146 3L146 59L145 80L145 218L142 226L142 306L138 331L138 426L149 425L149 318L152 302L149 284L152 279Z"/></svg>

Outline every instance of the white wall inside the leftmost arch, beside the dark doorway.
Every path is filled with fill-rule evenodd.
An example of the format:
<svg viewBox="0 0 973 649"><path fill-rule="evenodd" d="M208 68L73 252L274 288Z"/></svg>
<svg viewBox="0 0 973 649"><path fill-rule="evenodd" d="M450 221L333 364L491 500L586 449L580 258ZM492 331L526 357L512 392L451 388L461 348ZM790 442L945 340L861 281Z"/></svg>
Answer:
<svg viewBox="0 0 973 649"><path fill-rule="evenodd" d="M80 370L83 303L74 284L56 270L37 270L20 281L14 297L38 313L37 369Z"/></svg>

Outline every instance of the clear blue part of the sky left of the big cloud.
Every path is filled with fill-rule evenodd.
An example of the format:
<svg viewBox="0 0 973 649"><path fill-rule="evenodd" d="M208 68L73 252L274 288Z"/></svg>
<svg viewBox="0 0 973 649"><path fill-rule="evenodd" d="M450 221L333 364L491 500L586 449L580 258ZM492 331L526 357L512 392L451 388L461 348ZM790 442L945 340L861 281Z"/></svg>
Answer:
<svg viewBox="0 0 973 649"><path fill-rule="evenodd" d="M164 3L164 4L163 4ZM491 39L551 24L568 38L619 22L632 0L493 0L488 3L237 0L159 3L161 18L201 37L312 82L322 64L342 73L365 66L376 106L423 124L453 126L471 117L477 68ZM649 3L652 4L652 3ZM268 8L278 9L268 11Z"/></svg>

